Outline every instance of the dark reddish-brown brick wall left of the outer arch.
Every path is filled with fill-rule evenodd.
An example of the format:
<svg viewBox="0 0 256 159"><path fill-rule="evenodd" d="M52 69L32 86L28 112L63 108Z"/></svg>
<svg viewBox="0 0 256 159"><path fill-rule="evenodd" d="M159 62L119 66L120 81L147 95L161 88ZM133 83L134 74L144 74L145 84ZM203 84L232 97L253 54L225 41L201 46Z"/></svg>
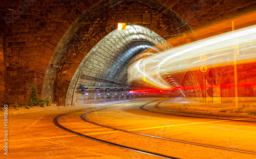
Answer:
<svg viewBox="0 0 256 159"><path fill-rule="evenodd" d="M1 41L4 54L1 55L5 64L5 84L1 83L1 90L5 86L4 96L14 102L20 96L27 102L33 82L40 92L51 58L45 44L59 26L58 20L63 20L76 5L72 1L1 1L1 37L4 38ZM41 74L36 75L35 70L40 70Z"/></svg>

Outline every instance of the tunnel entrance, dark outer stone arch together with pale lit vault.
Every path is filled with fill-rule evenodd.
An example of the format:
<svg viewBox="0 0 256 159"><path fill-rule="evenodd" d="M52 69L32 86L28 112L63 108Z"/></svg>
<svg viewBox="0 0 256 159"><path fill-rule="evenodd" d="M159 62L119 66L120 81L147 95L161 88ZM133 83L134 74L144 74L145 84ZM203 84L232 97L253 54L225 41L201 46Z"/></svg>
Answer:
<svg viewBox="0 0 256 159"><path fill-rule="evenodd" d="M48 65L44 64L44 66L38 67L34 75L36 84L42 83L41 90L39 90L41 98L50 97L51 102L57 105L72 104L75 84L81 83L81 81L77 81L79 74L81 74L80 80L86 83L84 85L87 85L86 88L102 87L103 84L109 88L113 85L110 84L110 81L119 82L115 83L113 87L120 86L126 81L125 69L129 65L128 63L134 61L133 57L140 51L147 48L154 50L153 46L165 41L161 38L165 35L191 30L180 15L157 1L154 4L140 1L123 2L125 6L132 9L129 13L122 13L122 16L120 12L123 11L123 5L113 2L115 5L106 3L106 6L102 6L99 3L101 2L88 9L83 9L83 12L73 17L75 19L73 23L61 22L54 36L45 44L46 51L54 51L51 53ZM139 9L141 7L143 10ZM152 15L150 24L142 22L142 12L145 13L145 11ZM131 28L127 26L127 33L125 33L126 31L111 33L117 29L117 22L125 22L133 26ZM181 26L184 27L175 30ZM132 32L133 30L136 33ZM111 37L110 35L113 36L112 41L108 39L101 41L106 36ZM99 41L104 44L100 44ZM158 52L170 47L167 45L160 45L155 49ZM105 54L108 55L105 56ZM97 57L97 55L101 57ZM84 60L84 58L86 59ZM40 62L48 62L43 60L44 58ZM96 65L93 64L94 62ZM83 65L84 69L77 72L78 67L82 67L80 65ZM92 72L88 72L89 70ZM89 78L91 82L89 82ZM41 81L41 79L43 80ZM95 83L96 79L98 83ZM120 88L123 87L120 86Z"/></svg>

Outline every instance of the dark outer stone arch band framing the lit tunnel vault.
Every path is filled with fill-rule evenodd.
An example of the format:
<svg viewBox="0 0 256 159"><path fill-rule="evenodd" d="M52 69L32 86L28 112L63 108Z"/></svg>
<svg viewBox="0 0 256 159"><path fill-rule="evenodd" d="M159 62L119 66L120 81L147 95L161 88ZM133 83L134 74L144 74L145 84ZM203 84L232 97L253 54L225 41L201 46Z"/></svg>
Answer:
<svg viewBox="0 0 256 159"><path fill-rule="evenodd" d="M100 8L98 7L98 3L103 3L105 2L105 6ZM108 2L108 3L106 3ZM51 96L53 97L53 94L55 95L54 102L59 103L60 105L65 105L66 100L64 97L66 97L66 93L68 91L69 83L78 68L79 62L87 55L87 53L99 42L104 36L108 35L111 31L116 29L116 25L113 25L112 23L110 24L98 24L99 27L102 28L102 30L98 31L92 31L91 36L87 39L86 44L83 46L80 46L80 49L74 49L73 52L68 52L67 49L70 49L71 47L76 47L75 44L80 44L80 42L76 42L77 39L80 38L82 41L84 36L79 35L82 30L84 29L90 29L90 25L92 27L92 24L89 24L89 21L97 20L96 17L102 15L105 11L108 11L112 9L112 7L118 6L118 3L121 4L124 1L117 1L117 2L111 2L111 1L99 1L98 3L91 5L90 8L82 8L82 7L77 7L77 9L74 9L70 14L69 18L67 15L67 19L75 19L75 13L85 13L85 14L80 14L78 18L75 19L75 22L70 24L68 22L61 22L59 27L56 29L55 34L53 34L52 38L50 38L49 41L46 42L46 46L48 47L47 49L49 50L50 54L52 52L52 56L50 58L49 63L42 64L46 69L46 73L44 75L44 82L42 85L42 91L41 91L41 96L47 97ZM147 1L141 1L140 3L144 4L145 6L149 7L154 7L155 9L157 6L163 6L160 9L160 12L165 11L165 15L169 18L174 19L174 22L179 23L179 25L184 25L185 21L173 10L168 9L167 6L162 4L161 2L155 1L155 6L154 4L148 4ZM85 9L86 11L82 10ZM76 10L76 12L74 12ZM71 18L72 17L72 18ZM127 18L119 18L117 19L119 22L125 22L130 21L133 23L136 23L136 20L139 21L141 16L135 16L135 17L129 17L127 15ZM70 25L70 26L69 26ZM140 23L140 25L143 25ZM69 26L69 27L68 27ZM151 25L147 25L146 27L151 29L152 31L155 31L159 35L169 35L170 32L165 30L164 28L159 28L157 27L157 23L152 23ZM185 27L186 30L190 30L189 26ZM62 37L60 37L62 35ZM59 41L58 41L59 40ZM56 44L57 43L57 44ZM56 47L54 48L54 45ZM54 49L51 50L51 49ZM82 50L82 51L81 51ZM48 56L48 58L50 55ZM70 58L71 57L71 58ZM69 64L67 65L67 62L63 62L63 59L71 59ZM44 61L44 58L41 60L42 62ZM45 60L47 61L47 60ZM62 68L54 68L51 67L52 65L56 66L61 66ZM62 72L60 74L59 72ZM58 75L59 74L59 75ZM57 78L60 78L58 80ZM58 99L61 96L61 99ZM53 100L53 98L51 98Z"/></svg>

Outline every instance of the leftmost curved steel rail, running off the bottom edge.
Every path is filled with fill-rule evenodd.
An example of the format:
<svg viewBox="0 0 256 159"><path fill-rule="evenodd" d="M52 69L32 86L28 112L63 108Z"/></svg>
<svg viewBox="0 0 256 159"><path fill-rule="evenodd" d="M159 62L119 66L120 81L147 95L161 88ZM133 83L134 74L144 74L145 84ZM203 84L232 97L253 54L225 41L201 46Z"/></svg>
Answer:
<svg viewBox="0 0 256 159"><path fill-rule="evenodd" d="M153 101L152 101L153 102ZM123 104L124 105L124 104ZM117 106L113 106L113 107L118 107L120 105L117 105ZM113 107L108 107L108 108L113 108ZM97 107L99 108L99 107ZM106 109L106 108L104 108ZM89 110L89 109L85 109L85 110ZM102 110L102 109L100 109ZM79 110L79 111L84 111L84 110ZM70 113L75 113L75 112L79 112L79 111L74 111L74 112L70 112ZM129 146L124 146L124 145L120 145L120 144L116 144L116 143L113 143L113 142L109 142L109 141L105 141L105 140L101 140L101 139L97 139L97 138L93 138L93 137L90 137L90 136L87 136L87 135L83 135L83 134L80 134L76 131L73 131L71 129L68 129L64 126L62 126L59 122L58 122L58 119L59 117L63 116L63 115L67 115L67 114L70 114L70 113L66 113L66 114L61 114L57 117L55 117L53 119L53 123L63 129L63 130L66 130L72 134L75 134L75 135L78 135L80 137L83 137L83 138L87 138L87 139L91 139L91 140L94 140L94 141L97 141L97 142L101 142L101 143L104 143L104 144L108 144L108 145L111 145L111 146L116 146L116 147L119 147L119 148L123 148L123 149L127 149L127 150L132 150L132 151L135 151L135 152L139 152L139 153L144 153L144 154L149 154L149 155L153 155L153 156L157 156L157 157L162 157L162 158L169 158L169 159L179 159L177 157L172 157L172 156L167 156L167 155L163 155L163 154L159 154L159 153L155 153L155 152L150 152L150 151L146 151L146 150L141 150L141 149L137 149L137 148L133 148L133 147L129 147Z"/></svg>

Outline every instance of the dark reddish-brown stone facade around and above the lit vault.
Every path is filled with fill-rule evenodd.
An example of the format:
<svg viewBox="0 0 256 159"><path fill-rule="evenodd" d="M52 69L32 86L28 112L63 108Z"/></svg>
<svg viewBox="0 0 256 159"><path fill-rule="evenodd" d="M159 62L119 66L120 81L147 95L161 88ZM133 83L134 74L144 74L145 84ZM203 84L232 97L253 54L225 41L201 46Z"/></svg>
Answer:
<svg viewBox="0 0 256 159"><path fill-rule="evenodd" d="M255 6L255 2L249 0L236 3L223 0L200 16L215 4L217 1L200 0L88 0L81 4L69 0L3 0L0 2L0 53L3 52L0 55L0 97L10 97L16 102L20 96L27 101L32 83L36 84L42 98L51 96L53 101L53 98L65 96L79 61L116 29L117 22L141 22L145 10L152 14L152 23L145 25L146 28L164 36L182 33L190 26L195 29ZM190 26L184 25L189 21ZM182 25L185 28L176 30ZM194 38L190 37L192 41ZM80 51L82 48L84 51Z"/></svg>

